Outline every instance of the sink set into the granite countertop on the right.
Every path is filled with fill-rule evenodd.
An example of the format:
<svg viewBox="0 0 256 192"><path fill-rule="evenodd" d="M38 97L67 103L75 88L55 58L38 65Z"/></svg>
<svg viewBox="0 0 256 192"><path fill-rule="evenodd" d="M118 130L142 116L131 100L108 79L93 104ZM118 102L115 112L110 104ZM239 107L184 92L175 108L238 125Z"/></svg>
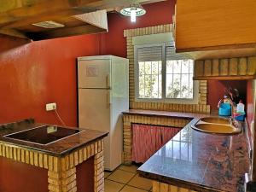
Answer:
<svg viewBox="0 0 256 192"><path fill-rule="evenodd" d="M231 135L241 132L241 129L232 125L230 119L219 117L201 118L195 125L192 125L191 127L196 131L203 131L212 134Z"/></svg>

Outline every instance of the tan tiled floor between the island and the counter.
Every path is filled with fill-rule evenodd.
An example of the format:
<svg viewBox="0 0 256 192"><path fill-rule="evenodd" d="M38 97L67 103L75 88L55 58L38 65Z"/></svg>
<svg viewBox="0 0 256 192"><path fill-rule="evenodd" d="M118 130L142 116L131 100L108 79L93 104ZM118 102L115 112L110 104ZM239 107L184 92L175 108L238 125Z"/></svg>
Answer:
<svg viewBox="0 0 256 192"><path fill-rule="evenodd" d="M105 192L151 191L152 182L139 177L137 168L137 166L119 166L113 172L105 172Z"/></svg>

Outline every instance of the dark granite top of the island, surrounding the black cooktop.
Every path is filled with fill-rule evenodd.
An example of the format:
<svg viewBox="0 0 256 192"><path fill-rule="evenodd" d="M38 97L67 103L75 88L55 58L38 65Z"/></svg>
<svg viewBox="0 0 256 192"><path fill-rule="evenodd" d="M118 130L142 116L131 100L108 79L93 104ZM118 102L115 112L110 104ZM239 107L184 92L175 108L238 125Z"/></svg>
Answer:
<svg viewBox="0 0 256 192"><path fill-rule="evenodd" d="M61 140L56 141L55 143L49 143L47 145L28 143L25 141L13 140L8 137L3 137L5 135L9 135L19 131L26 131L42 125L45 124L35 123L33 119L26 119L16 123L0 125L0 142L10 143L12 145L16 145L22 148L38 150L45 154L53 156L65 156L66 154L69 154L77 148L83 147L90 143L94 143L96 140L106 137L108 135L108 132L83 129L83 131L73 136L65 137ZM74 127L65 128L78 129Z"/></svg>

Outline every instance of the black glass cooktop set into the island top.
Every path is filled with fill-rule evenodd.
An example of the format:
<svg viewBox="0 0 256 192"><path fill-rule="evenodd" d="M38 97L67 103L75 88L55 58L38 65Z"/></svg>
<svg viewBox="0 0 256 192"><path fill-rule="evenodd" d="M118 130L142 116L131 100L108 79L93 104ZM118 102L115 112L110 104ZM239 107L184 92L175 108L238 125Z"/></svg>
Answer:
<svg viewBox="0 0 256 192"><path fill-rule="evenodd" d="M22 142L47 145L65 137L73 136L79 132L80 131L78 129L44 125L26 131L15 132L13 134L5 135L4 137Z"/></svg>

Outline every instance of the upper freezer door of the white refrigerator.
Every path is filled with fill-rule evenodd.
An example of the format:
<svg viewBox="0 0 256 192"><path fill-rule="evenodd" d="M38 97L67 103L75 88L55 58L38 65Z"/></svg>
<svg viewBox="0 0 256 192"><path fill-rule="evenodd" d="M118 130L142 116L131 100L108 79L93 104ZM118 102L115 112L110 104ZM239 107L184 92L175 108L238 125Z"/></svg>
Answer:
<svg viewBox="0 0 256 192"><path fill-rule="evenodd" d="M79 88L110 88L110 64L109 59L79 61Z"/></svg>

